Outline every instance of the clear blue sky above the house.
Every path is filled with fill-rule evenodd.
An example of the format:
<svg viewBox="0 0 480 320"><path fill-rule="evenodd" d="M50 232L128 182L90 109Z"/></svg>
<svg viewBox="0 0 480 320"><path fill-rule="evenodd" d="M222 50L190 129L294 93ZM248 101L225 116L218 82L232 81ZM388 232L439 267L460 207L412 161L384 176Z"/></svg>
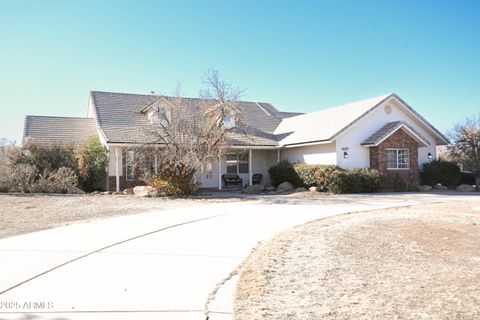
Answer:
<svg viewBox="0 0 480 320"><path fill-rule="evenodd" d="M314 111L399 94L440 130L480 112L480 1L2 1L0 137L26 114L85 116L90 90Z"/></svg>

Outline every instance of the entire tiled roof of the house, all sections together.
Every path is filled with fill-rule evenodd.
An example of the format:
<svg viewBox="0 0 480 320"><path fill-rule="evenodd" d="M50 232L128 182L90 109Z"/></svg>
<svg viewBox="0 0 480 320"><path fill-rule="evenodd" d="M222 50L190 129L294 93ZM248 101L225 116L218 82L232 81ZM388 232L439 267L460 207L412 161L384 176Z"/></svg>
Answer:
<svg viewBox="0 0 480 320"><path fill-rule="evenodd" d="M448 143L445 136L393 93L306 114L281 112L269 103L239 101L237 108L241 114L241 121L237 122L237 127L246 134L230 133L229 137L231 144L237 146L275 147L331 141L391 97L402 102L425 126L436 133L437 144ZM27 116L24 138L31 137L43 143L78 144L97 133L99 128L100 134L109 143L154 142L146 133L146 128L151 124L147 114L142 110L161 101L160 99L169 101L175 98L92 91L90 99L94 106L96 120L94 118ZM210 101L212 103L209 103ZM182 103L203 108L206 111L215 101L182 98ZM396 130L397 125L399 124L386 125L365 143L369 144L380 139L388 134L389 130ZM402 125L415 132L407 124Z"/></svg>

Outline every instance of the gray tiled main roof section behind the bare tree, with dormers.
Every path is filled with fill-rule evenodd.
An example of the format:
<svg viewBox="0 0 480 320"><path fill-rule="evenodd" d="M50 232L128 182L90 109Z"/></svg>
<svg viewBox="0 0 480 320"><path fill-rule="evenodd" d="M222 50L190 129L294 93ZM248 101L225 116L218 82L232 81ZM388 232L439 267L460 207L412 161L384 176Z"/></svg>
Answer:
<svg viewBox="0 0 480 320"><path fill-rule="evenodd" d="M100 127L110 143L147 142L145 127L150 122L142 109L153 102L172 97L92 91L91 98L96 107ZM208 100L198 98L182 98L182 103L192 106L203 106ZM213 100L212 100L213 102ZM242 114L242 129L247 135L231 134L234 145L277 146L275 128L282 119L297 113L279 112L269 103L239 101L237 104Z"/></svg>

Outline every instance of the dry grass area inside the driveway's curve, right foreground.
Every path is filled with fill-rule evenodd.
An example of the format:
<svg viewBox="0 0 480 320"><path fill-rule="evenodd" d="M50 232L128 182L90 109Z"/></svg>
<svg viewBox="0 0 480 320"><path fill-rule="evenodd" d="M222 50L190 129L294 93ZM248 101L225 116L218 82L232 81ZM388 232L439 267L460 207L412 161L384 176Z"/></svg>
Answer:
<svg viewBox="0 0 480 320"><path fill-rule="evenodd" d="M245 262L235 319L480 319L480 202L286 231Z"/></svg>

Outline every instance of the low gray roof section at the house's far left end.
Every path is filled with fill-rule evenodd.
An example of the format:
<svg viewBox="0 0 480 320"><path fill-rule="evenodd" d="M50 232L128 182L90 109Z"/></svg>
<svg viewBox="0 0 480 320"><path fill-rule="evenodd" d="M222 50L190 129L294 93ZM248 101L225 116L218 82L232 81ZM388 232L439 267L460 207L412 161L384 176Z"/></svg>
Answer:
<svg viewBox="0 0 480 320"><path fill-rule="evenodd" d="M96 134L93 118L26 116L23 143L80 145Z"/></svg>

